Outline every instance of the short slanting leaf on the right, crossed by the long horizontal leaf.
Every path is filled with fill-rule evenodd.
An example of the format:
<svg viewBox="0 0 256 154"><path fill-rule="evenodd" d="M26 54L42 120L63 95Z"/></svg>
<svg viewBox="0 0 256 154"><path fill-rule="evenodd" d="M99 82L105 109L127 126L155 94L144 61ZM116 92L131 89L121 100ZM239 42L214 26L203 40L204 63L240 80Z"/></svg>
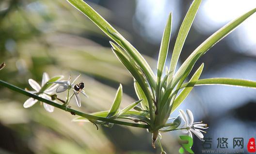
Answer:
<svg viewBox="0 0 256 154"><path fill-rule="evenodd" d="M202 71L204 68L204 63L198 68L198 70L195 71L194 75L190 79L189 82L195 82L199 79ZM176 108L183 102L183 100L189 95L189 93L192 91L193 86L184 88L181 93L178 95L178 97L175 99L171 112L174 112ZM179 89L177 89L179 90Z"/></svg>

